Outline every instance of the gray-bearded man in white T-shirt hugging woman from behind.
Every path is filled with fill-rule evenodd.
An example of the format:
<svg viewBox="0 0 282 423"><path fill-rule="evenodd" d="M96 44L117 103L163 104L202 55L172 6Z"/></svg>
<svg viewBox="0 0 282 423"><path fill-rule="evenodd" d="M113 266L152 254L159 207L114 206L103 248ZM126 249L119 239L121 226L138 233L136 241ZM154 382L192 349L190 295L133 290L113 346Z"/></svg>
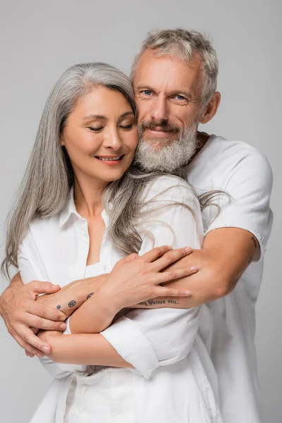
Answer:
<svg viewBox="0 0 282 423"><path fill-rule="evenodd" d="M136 307L195 307L210 302L212 321L204 322L201 335L218 375L223 421L257 423L255 302L272 224L272 175L255 148L198 132L199 123L209 122L219 107L217 73L212 45L199 32L185 30L153 32L133 62L140 125L136 161L146 171L185 168L199 195L221 190L214 197L221 209L203 210L207 231L203 249L171 266L199 269L171 283L172 288L190 290L190 298L180 298L176 305L166 299L165 304L143 301ZM16 341L30 354L40 355L39 350L47 352L49 347L30 326L58 330L60 320L73 311L68 300L75 298L79 307L104 281L106 276L75 281L59 290L38 281L22 286L16 276L1 297L0 312ZM156 297L154 286L147 283L146 289L147 298ZM138 290L141 298L144 286L128 281L128 293L134 298ZM35 302L44 292L50 295ZM55 309L58 303L64 314Z"/></svg>

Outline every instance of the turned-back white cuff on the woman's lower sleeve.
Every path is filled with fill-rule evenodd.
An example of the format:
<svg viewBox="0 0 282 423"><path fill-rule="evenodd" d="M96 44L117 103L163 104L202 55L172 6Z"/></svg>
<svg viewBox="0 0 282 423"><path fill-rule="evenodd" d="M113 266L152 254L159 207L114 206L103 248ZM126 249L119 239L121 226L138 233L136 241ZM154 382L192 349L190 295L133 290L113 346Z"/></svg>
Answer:
<svg viewBox="0 0 282 423"><path fill-rule="evenodd" d="M121 357L132 364L133 372L149 379L152 372L159 367L157 353L146 336L128 317L121 317L114 324L101 332Z"/></svg>

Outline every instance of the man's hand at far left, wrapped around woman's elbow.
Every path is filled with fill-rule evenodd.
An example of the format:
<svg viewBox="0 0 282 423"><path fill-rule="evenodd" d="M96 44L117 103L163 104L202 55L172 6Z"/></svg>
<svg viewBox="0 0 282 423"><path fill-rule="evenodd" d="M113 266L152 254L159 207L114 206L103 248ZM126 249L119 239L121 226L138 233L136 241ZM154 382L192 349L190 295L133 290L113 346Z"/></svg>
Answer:
<svg viewBox="0 0 282 423"><path fill-rule="evenodd" d="M59 309L47 307L35 300L39 294L55 293L60 287L40 281L32 281L23 285L19 276L15 276L13 279L14 281L0 297L0 314L8 332L22 348L30 356L43 357L45 353L50 352L51 348L35 335L35 331L32 331L31 327L63 331L66 329L66 324L63 323L66 316Z"/></svg>

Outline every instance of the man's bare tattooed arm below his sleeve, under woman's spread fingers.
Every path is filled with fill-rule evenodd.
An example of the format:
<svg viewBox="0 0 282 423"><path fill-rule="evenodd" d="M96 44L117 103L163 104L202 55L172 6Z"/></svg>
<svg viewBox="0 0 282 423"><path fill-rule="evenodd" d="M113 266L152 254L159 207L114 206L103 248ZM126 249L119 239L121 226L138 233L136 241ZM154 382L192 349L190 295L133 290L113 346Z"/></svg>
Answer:
<svg viewBox="0 0 282 423"><path fill-rule="evenodd" d="M238 228L219 228L207 234L202 250L170 266L194 266L197 273L167 283L173 288L190 290L188 298L154 298L136 308L197 307L231 293L247 266L259 255L259 243L252 233Z"/></svg>

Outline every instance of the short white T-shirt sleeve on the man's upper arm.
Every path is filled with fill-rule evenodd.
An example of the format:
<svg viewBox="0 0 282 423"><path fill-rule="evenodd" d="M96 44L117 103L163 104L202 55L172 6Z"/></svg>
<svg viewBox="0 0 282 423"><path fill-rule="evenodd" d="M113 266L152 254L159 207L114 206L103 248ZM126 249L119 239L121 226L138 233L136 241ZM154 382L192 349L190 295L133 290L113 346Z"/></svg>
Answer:
<svg viewBox="0 0 282 423"><path fill-rule="evenodd" d="M266 158L259 152L243 157L233 168L221 195L219 214L207 227L207 233L217 228L241 228L257 238L261 250L259 260L266 250L271 233L273 214L269 207L272 188L272 171Z"/></svg>

